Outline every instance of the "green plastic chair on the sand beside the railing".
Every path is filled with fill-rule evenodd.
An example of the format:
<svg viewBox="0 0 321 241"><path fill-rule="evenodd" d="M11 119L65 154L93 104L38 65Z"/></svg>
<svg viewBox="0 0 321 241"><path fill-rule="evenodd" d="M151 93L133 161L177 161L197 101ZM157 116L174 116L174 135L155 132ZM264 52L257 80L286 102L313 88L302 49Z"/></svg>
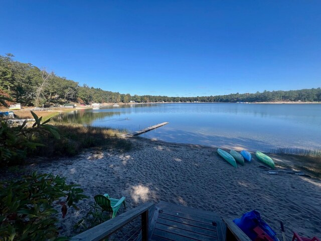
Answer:
<svg viewBox="0 0 321 241"><path fill-rule="evenodd" d="M98 194L94 198L97 204L102 208L102 210L112 213L111 218L114 218L116 216L116 213L122 203L124 204L124 207L126 209L125 197L116 199L116 198L109 197L109 195L105 193L104 195Z"/></svg>

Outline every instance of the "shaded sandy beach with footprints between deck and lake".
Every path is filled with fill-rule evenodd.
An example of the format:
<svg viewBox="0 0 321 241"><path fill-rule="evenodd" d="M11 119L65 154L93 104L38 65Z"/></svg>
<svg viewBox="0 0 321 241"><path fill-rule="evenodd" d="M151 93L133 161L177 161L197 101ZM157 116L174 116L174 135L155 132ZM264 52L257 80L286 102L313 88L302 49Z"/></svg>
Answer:
<svg viewBox="0 0 321 241"><path fill-rule="evenodd" d="M60 217L61 235L88 212L94 195L126 197L127 210L144 202L167 201L209 211L226 218L256 209L280 235L282 220L289 239L292 230L321 237L321 181L297 175L267 175L253 160L233 168L216 148L132 138L126 153L87 150L74 158L33 160L27 171L59 174L78 183L89 199L80 210ZM276 166L285 161L274 158ZM34 163L33 163L34 162ZM124 212L123 207L119 213Z"/></svg>

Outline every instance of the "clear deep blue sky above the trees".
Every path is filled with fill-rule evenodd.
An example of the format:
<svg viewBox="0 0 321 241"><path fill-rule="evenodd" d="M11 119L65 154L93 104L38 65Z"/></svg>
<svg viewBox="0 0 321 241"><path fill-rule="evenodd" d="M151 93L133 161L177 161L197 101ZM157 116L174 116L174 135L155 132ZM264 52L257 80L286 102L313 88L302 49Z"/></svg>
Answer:
<svg viewBox="0 0 321 241"><path fill-rule="evenodd" d="M0 55L130 94L321 87L321 1L9 1Z"/></svg>

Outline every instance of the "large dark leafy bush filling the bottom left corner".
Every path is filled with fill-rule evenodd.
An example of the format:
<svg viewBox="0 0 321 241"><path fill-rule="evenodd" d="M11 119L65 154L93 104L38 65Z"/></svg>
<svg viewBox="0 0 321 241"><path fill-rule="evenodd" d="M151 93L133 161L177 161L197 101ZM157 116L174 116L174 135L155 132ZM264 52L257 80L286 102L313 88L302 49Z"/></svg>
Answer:
<svg viewBox="0 0 321 241"><path fill-rule="evenodd" d="M62 207L63 216L67 205L77 209L76 203L88 198L82 193L78 185L67 185L65 178L36 172L19 181L0 183L0 239L68 240L57 238L54 214L57 206Z"/></svg>

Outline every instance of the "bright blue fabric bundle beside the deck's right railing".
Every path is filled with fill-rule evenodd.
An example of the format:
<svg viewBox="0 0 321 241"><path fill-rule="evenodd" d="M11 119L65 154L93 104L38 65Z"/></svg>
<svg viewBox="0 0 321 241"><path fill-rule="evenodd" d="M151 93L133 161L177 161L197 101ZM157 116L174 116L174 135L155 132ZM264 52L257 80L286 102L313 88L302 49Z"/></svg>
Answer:
<svg viewBox="0 0 321 241"><path fill-rule="evenodd" d="M242 231L251 238L251 240L255 240L256 233L253 229L256 226L259 226L264 232L267 233L274 241L278 241L279 239L276 237L275 231L261 219L261 215L258 211L252 210L246 212L240 218L235 218L233 222L242 229Z"/></svg>

